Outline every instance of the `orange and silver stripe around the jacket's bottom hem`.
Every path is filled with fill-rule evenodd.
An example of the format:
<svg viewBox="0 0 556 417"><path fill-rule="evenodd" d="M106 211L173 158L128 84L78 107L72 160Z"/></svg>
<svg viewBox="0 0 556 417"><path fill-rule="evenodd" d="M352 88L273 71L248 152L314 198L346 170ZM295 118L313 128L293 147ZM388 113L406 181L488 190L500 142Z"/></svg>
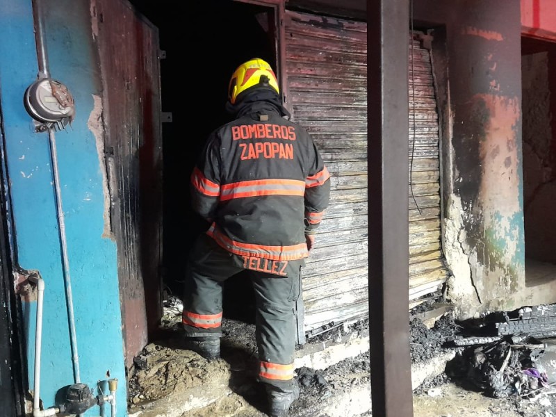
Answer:
<svg viewBox="0 0 556 417"><path fill-rule="evenodd" d="M294 261L309 256L306 243L289 246L268 246L237 242L222 233L215 223L206 231L206 234L211 236L225 250L236 255L255 256L256 258L271 259L272 261Z"/></svg>

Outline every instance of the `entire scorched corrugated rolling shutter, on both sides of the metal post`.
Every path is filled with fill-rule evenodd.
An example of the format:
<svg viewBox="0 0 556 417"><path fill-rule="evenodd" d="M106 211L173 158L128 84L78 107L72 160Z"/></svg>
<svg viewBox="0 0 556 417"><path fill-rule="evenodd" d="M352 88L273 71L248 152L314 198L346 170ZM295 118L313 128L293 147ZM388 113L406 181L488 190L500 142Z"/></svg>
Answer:
<svg viewBox="0 0 556 417"><path fill-rule="evenodd" d="M286 103L332 174L330 205L303 271L306 332L368 316L366 36L362 22L286 11ZM414 300L436 291L447 273L432 69L426 49L415 44L411 54L415 90L409 97L415 97L416 113L409 117L409 300Z"/></svg>

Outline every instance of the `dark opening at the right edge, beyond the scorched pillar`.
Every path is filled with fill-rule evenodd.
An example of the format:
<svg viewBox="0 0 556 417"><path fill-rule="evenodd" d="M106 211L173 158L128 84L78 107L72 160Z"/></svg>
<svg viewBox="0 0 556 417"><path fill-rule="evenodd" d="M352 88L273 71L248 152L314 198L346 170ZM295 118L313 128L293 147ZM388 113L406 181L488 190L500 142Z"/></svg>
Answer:
<svg viewBox="0 0 556 417"><path fill-rule="evenodd" d="M523 37L521 56L525 268L531 285L556 275L556 43Z"/></svg>

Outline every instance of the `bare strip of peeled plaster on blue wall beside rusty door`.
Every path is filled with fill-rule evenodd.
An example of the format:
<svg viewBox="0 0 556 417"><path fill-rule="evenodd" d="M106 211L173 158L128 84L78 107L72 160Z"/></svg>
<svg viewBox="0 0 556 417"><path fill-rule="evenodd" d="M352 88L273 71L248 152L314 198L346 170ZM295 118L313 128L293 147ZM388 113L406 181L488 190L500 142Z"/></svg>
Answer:
<svg viewBox="0 0 556 417"><path fill-rule="evenodd" d="M102 191L104 194L104 229L103 238L114 238L110 223L110 190L108 188L108 174L106 172L106 158L104 157L104 127L102 125L102 99L97 95L93 95L95 105L89 115L87 126L95 136L97 144L97 156L99 157L99 170L102 175Z"/></svg>

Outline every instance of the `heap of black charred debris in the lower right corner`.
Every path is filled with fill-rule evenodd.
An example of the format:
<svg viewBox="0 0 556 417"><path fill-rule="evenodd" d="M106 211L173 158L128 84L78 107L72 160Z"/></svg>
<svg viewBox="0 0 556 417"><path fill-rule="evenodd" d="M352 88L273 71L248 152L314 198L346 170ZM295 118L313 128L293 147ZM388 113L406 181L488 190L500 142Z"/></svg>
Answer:
<svg viewBox="0 0 556 417"><path fill-rule="evenodd" d="M556 393L556 304L485 313L458 324L448 342L457 349L445 370L450 379L493 398Z"/></svg>

